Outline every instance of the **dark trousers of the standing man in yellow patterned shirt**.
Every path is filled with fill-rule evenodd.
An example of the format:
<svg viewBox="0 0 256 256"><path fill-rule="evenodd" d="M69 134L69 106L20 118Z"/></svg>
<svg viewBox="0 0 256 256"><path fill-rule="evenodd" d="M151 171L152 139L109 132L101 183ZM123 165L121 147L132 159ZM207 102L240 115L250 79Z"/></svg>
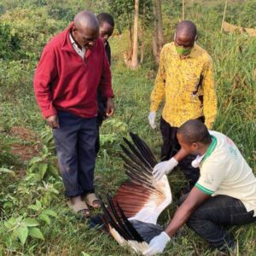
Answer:
<svg viewBox="0 0 256 256"><path fill-rule="evenodd" d="M201 117L201 121L204 119ZM169 160L173 155L180 149L180 145L177 142L177 127L169 125L165 119L160 119L160 131L162 134L163 145L161 148L161 160ZM185 177L189 181L189 190L192 189L199 178L199 168L191 166L191 162L195 160L195 155L188 155L186 158L181 160L178 166L181 167Z"/></svg>

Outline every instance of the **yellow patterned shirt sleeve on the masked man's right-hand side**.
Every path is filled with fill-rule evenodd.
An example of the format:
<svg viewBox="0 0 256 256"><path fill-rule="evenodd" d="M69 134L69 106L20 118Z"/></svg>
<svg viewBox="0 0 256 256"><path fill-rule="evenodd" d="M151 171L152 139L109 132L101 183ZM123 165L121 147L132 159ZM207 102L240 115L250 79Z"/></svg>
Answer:
<svg viewBox="0 0 256 256"><path fill-rule="evenodd" d="M212 128L217 114L217 96L212 73L212 59L209 58L203 72L202 90L204 96L204 116L208 129Z"/></svg>

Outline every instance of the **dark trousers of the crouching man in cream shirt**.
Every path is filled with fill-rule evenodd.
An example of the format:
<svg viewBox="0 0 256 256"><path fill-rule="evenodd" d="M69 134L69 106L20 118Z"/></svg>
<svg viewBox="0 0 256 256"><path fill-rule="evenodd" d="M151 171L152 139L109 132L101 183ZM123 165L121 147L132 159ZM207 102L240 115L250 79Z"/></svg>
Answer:
<svg viewBox="0 0 256 256"><path fill-rule="evenodd" d="M179 201L180 206L187 195ZM224 230L224 226L249 224L256 221L253 211L247 212L242 202L227 195L216 195L207 199L192 213L187 225L199 236L207 240L212 247L221 251L234 249L234 237Z"/></svg>

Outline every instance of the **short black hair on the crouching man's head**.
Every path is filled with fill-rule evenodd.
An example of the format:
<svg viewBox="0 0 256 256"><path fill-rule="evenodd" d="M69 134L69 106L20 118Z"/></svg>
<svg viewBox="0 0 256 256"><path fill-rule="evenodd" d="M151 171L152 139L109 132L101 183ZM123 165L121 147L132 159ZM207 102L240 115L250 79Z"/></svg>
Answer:
<svg viewBox="0 0 256 256"><path fill-rule="evenodd" d="M185 122L177 129L177 133L182 135L183 140L189 144L210 144L212 142L207 126L198 119Z"/></svg>

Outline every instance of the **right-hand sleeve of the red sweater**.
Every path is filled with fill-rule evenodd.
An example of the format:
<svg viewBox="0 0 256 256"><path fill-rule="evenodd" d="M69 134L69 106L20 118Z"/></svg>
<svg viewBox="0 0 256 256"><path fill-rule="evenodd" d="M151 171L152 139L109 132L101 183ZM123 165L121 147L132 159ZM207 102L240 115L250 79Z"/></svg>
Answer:
<svg viewBox="0 0 256 256"><path fill-rule="evenodd" d="M102 78L100 82L100 86L102 87L102 97L109 98L113 97L113 89L112 89L112 76L111 70L108 62L108 55L105 51L104 44L102 42L102 50L103 50L103 67L102 67Z"/></svg>

